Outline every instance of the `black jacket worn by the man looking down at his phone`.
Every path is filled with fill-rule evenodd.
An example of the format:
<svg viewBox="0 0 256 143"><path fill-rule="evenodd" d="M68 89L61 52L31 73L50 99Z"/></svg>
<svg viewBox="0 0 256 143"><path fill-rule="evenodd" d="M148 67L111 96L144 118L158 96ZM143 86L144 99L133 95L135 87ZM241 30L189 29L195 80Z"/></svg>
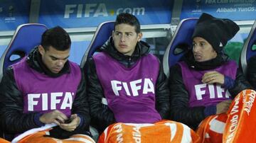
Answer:
<svg viewBox="0 0 256 143"><path fill-rule="evenodd" d="M60 73L50 73L46 66L41 61L41 55L38 48L35 48L28 55L26 62L29 67L35 69L42 74L51 77L60 76L69 73L69 64L66 62L64 68ZM58 83L56 83L58 84ZM47 85L46 85L47 86ZM53 87L54 88L54 87ZM0 84L0 128L8 134L18 134L39 127L36 124L36 115L39 113L23 113L23 97L21 91L18 90L16 81L14 79L14 71L11 67L6 69ZM82 74L82 80L78 86L78 90L73 101L71 110L72 114L78 114L82 117L82 123L79 128L81 130L89 130L90 114L87 97L85 95L85 77Z"/></svg>

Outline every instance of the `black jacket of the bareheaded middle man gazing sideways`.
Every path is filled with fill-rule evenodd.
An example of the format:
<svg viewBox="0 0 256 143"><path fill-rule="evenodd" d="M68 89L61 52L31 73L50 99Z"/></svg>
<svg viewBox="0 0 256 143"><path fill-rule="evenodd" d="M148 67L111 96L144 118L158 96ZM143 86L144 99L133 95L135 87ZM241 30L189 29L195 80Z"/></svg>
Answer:
<svg viewBox="0 0 256 143"><path fill-rule="evenodd" d="M149 45L146 42L138 42L132 56L125 56L114 48L112 38L110 38L100 48L100 51L106 52L126 67L131 67L139 58L149 53ZM92 58L86 62L84 71L87 79L87 94L89 96L92 126L96 127L99 132L102 132L108 125L115 122L114 114L107 105L102 104L102 98L105 98L105 96L97 77L95 62ZM156 110L158 110L163 119L169 118L169 88L167 82L164 71L160 67L156 83Z"/></svg>

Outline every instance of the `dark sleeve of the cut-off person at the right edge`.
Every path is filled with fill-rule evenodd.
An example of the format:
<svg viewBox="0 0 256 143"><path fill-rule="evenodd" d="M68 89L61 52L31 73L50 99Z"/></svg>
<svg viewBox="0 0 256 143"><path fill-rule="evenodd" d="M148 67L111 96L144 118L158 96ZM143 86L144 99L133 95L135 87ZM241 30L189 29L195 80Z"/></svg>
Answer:
<svg viewBox="0 0 256 143"><path fill-rule="evenodd" d="M247 79L256 90L256 56L251 57L247 62Z"/></svg>

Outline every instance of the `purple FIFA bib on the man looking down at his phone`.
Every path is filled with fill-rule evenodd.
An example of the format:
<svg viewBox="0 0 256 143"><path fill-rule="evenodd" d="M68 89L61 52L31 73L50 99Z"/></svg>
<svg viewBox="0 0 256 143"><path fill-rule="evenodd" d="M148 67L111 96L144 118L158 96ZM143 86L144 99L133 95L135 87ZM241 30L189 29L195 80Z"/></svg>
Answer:
<svg viewBox="0 0 256 143"><path fill-rule="evenodd" d="M65 115L71 114L81 71L77 64L69 64L70 73L55 78L31 69L26 57L13 65L14 78L23 96L23 113L48 113L57 109Z"/></svg>

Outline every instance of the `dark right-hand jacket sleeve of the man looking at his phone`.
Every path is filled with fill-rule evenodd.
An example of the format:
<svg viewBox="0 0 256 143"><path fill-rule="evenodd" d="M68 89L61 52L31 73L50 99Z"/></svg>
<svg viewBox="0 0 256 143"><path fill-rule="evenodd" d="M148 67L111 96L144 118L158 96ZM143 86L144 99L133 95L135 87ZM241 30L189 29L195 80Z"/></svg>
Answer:
<svg viewBox="0 0 256 143"><path fill-rule="evenodd" d="M73 102L72 114L78 114L80 118L80 128L89 130L90 124L90 112L88 97L86 94L86 81L85 74L82 71L82 78L76 92L75 100Z"/></svg>

